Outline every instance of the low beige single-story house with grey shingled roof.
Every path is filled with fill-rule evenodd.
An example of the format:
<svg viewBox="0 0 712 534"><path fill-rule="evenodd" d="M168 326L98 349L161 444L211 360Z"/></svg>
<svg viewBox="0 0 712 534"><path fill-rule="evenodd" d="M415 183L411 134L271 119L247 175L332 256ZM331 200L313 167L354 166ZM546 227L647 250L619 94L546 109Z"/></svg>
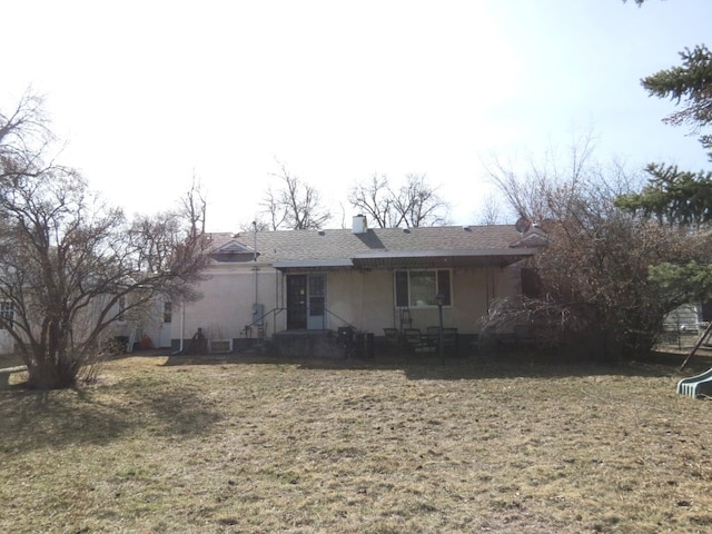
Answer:
<svg viewBox="0 0 712 534"><path fill-rule="evenodd" d="M230 352L285 333L425 330L438 324L438 293L444 326L474 336L493 299L520 295L520 266L546 243L538 228L372 229L364 216L354 217L350 229L210 239L201 298L172 306L175 350L187 350L194 336Z"/></svg>

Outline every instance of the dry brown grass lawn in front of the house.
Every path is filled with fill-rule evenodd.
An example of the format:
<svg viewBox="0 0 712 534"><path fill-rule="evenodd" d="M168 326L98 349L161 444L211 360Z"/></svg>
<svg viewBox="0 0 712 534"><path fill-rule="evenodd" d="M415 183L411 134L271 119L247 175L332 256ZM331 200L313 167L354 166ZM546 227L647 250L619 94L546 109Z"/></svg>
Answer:
<svg viewBox="0 0 712 534"><path fill-rule="evenodd" d="M680 376L117 359L0 392L0 531L709 532L711 405Z"/></svg>

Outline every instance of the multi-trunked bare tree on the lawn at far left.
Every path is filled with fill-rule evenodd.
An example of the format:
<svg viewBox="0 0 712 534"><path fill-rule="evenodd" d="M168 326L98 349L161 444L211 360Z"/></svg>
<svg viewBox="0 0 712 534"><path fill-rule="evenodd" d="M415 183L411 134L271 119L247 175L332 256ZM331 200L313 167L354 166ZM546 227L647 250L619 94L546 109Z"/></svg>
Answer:
<svg viewBox="0 0 712 534"><path fill-rule="evenodd" d="M190 299L206 265L197 220L128 221L73 169L46 164L47 121L24 99L0 118L0 327L31 387L75 385L121 314L159 295ZM29 125L29 126L28 126ZM38 138L39 136L39 138Z"/></svg>

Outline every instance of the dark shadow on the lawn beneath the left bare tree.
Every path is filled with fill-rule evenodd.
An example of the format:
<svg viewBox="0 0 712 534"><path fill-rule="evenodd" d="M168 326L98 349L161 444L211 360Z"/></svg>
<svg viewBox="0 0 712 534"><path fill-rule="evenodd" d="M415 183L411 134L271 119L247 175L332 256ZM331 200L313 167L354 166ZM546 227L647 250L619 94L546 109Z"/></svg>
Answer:
<svg viewBox="0 0 712 534"><path fill-rule="evenodd" d="M96 390L14 387L0 394L0 452L101 445L134 433L157 438L197 435L220 418L185 389L151 390L132 384Z"/></svg>

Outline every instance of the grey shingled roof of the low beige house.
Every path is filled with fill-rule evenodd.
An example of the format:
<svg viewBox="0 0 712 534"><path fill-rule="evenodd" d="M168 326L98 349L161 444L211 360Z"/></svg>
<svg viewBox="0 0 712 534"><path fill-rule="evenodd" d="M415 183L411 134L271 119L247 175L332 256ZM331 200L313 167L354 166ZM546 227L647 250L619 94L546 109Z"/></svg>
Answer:
<svg viewBox="0 0 712 534"><path fill-rule="evenodd" d="M254 258L251 233L212 234L211 238L217 260ZM278 269L457 267L507 265L533 255L545 240L536 228L522 235L504 225L373 228L359 234L352 229L284 230L257 233L257 253L260 263ZM236 249L245 253L241 259L236 259Z"/></svg>

